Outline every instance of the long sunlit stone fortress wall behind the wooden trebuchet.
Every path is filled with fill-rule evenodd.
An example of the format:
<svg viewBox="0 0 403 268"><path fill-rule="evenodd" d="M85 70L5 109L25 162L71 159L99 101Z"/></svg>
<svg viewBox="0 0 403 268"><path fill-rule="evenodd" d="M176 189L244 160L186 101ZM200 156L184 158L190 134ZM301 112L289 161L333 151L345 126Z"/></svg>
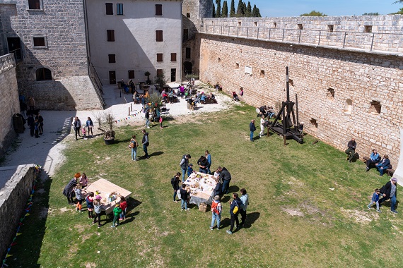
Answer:
<svg viewBox="0 0 403 268"><path fill-rule="evenodd" d="M402 16L318 18L264 18L269 21L310 21L322 27L324 20L338 21L348 30L360 30L364 19L381 22L384 18L398 32ZM356 21L354 21L356 18ZM241 25L257 18L205 19L206 24L231 21ZM364 21L363 21L364 20ZM382 22L387 24L387 22ZM325 22L325 25L327 22ZM254 24L254 23L253 23ZM279 23L277 27L282 25ZM356 25L354 29L348 25ZM291 27L291 26L290 26ZM389 26L387 26L389 27ZM387 29L385 34L388 34ZM387 36L387 35L385 35ZM346 149L356 138L361 157L372 149L389 154L392 165L399 159L399 127L403 127L403 61L396 52L369 49L342 49L266 39L199 33L199 68L204 82L221 83L228 93L243 87L243 100L254 106L270 105L286 98L286 66L290 70L291 99L298 94L300 121L305 130L320 140ZM390 42L385 39L385 43Z"/></svg>

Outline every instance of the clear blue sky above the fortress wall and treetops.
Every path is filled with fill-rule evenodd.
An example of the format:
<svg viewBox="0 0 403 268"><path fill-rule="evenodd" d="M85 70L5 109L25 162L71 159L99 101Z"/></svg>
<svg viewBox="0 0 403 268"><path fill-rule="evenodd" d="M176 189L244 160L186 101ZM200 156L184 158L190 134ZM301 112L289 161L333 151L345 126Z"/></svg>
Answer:
<svg viewBox="0 0 403 268"><path fill-rule="evenodd" d="M243 0L247 1L248 0ZM381 15L394 13L403 8L403 4L393 4L396 0L249 0L259 8L262 17L300 16L310 11L320 11L327 16L358 16L363 13L378 12ZM221 1L222 5L223 1ZM228 5L230 1L228 1ZM235 0L235 9L238 0ZM228 6L229 8L229 6Z"/></svg>

